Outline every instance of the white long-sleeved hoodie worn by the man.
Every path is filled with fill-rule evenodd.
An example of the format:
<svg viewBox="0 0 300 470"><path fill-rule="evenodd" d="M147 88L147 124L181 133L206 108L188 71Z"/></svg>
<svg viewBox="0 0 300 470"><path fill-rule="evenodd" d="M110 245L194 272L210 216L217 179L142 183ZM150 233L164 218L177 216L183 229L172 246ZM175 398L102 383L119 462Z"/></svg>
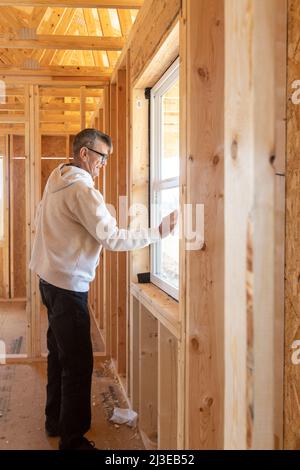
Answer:
<svg viewBox="0 0 300 470"><path fill-rule="evenodd" d="M102 247L129 251L158 239L158 229L119 229L91 175L61 164L51 173L38 207L29 267L54 286L86 292Z"/></svg>

